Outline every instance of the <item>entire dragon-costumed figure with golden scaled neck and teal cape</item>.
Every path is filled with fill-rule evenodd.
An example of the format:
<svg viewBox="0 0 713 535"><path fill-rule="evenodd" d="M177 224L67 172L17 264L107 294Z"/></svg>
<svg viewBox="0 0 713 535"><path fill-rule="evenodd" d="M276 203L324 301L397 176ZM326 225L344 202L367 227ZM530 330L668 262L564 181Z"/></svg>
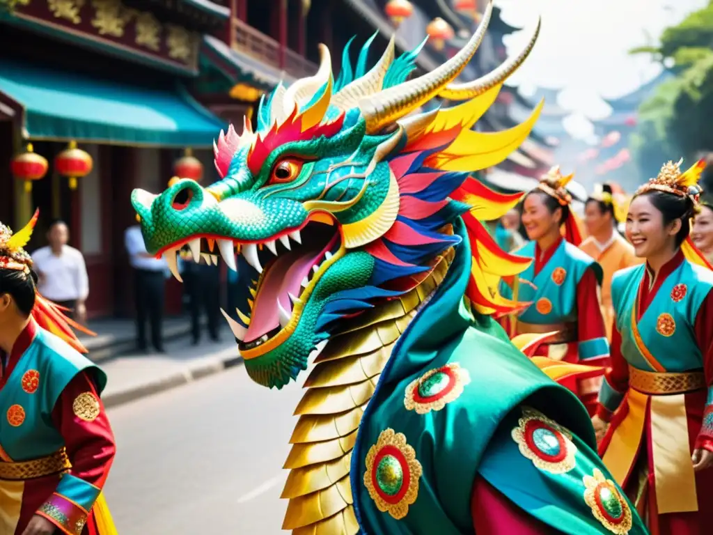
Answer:
<svg viewBox="0 0 713 535"><path fill-rule="evenodd" d="M133 192L150 252L175 270L180 248L217 247L250 287L228 321L252 379L281 388L318 348L284 465L295 535L646 533L585 409L492 319L518 306L499 274L530 261L499 250L478 218L520 195L469 173L519 146L541 104L509 131L471 129L537 36L453 83L491 13L409 81L420 47L394 58L392 39L369 71L369 44L355 69L347 49L335 82L321 46L315 76L261 101L257 132L246 121L220 133L222 180ZM437 96L460 103L411 114ZM173 203L179 193L188 203Z"/></svg>

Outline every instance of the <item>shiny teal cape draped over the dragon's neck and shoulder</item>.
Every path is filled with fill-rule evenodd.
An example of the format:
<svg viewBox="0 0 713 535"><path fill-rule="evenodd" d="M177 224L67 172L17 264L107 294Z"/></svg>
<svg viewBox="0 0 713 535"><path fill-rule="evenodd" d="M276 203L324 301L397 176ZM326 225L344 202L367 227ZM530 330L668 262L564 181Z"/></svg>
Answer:
<svg viewBox="0 0 713 535"><path fill-rule="evenodd" d="M465 235L460 221L454 230L461 237ZM354 509L363 534L472 534L470 501L478 469L483 459L491 455L491 449L500 447L498 443L491 444L491 439L501 422L525 402L566 425L579 437L578 444L591 466L606 473L593 454L596 442L590 419L575 395L540 372L490 317L474 316L463 302L470 267L471 251L468 240L463 240L433 299L396 343L366 407L351 469ZM438 389L445 392L443 385L448 382L443 372L437 371L443 367L458 372L454 377L460 388L451 391L457 395L442 398L440 408L434 403L431 409L424 410L426 404L415 403L421 407L419 413L414 409L414 392L423 394L424 399L434 399L428 394ZM424 374L429 373L424 379ZM419 383L419 378L424 380ZM407 392L411 392L411 404ZM377 446L381 444L380 437L389 440L394 434L403 434L407 447ZM515 458L519 461L522 455L515 442L513 446L515 449L508 451L513 462ZM405 462L399 466L400 452L406 452L406 459L413 454L418 466L414 468L413 459L408 466ZM524 457L523 460L530 462ZM542 486L544 492L547 480L531 462L530 467L520 473L503 473L502 477L513 486L528 486L535 493ZM407 513L403 514L403 508L400 513L396 511L400 516L397 519L388 510L379 510L367 481L372 489L379 486L378 496L386 499L397 498L397 491L408 483L412 501ZM558 488L557 496L551 496L550 509L567 509L573 516L586 511L578 486L562 484ZM542 516L528 509L529 502L520 506L533 516ZM602 528L587 533L597 532L606 531Z"/></svg>

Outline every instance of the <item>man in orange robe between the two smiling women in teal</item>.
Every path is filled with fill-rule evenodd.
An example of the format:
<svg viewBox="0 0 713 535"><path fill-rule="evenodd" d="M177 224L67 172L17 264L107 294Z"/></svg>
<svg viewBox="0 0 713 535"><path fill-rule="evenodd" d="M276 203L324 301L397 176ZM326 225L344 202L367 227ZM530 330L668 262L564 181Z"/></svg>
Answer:
<svg viewBox="0 0 713 535"><path fill-rule="evenodd" d="M607 340L612 339L614 321L612 275L617 270L642 262L634 254L632 245L616 230L618 223L626 219L626 212L622 208L609 184L597 184L585 203L585 225L589 237L580 245L580 249L594 258L604 272L600 302Z"/></svg>

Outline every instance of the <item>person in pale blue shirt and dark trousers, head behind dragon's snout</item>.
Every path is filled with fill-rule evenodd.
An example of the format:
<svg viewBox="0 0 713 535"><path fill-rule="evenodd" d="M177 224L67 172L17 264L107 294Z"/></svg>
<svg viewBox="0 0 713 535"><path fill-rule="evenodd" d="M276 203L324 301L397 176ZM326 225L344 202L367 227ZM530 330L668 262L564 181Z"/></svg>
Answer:
<svg viewBox="0 0 713 535"><path fill-rule="evenodd" d="M136 307L136 346L139 351L148 351L146 343L146 320L151 329L151 345L159 352L163 349L163 307L165 273L168 264L163 258L155 258L146 250L140 225L126 229L124 235L126 252L134 272Z"/></svg>

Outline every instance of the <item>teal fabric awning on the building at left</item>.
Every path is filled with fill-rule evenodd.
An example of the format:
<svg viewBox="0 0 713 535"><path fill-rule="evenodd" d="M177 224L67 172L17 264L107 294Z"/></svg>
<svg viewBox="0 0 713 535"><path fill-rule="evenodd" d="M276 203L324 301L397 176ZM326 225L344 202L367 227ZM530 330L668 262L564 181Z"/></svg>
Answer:
<svg viewBox="0 0 713 535"><path fill-rule="evenodd" d="M178 83L150 88L0 59L0 93L22 108L29 139L201 148L226 126Z"/></svg>

